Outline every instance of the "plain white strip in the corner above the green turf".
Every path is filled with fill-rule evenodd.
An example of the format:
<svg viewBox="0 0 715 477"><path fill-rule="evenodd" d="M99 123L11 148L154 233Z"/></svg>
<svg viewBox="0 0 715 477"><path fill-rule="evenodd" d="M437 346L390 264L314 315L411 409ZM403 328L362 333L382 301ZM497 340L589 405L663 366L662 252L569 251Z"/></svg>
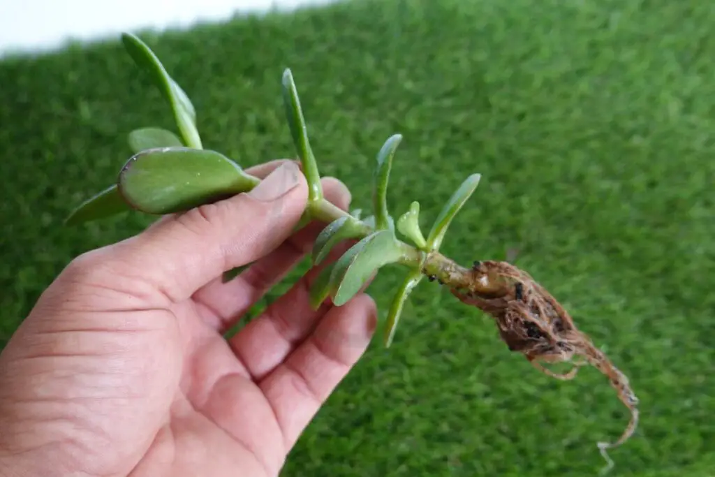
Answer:
<svg viewBox="0 0 715 477"><path fill-rule="evenodd" d="M332 0L0 0L0 56L46 51L67 39L104 39L120 31L190 26L236 12L295 9Z"/></svg>

